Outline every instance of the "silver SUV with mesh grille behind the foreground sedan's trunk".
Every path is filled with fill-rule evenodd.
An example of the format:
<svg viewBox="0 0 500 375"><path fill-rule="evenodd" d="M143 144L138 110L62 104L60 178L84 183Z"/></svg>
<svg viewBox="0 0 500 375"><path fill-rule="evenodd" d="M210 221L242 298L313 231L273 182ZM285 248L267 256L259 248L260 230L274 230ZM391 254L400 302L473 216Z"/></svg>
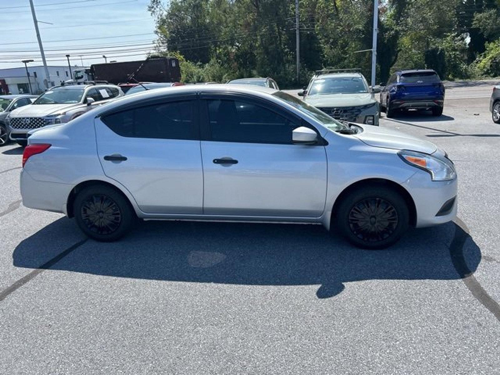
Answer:
<svg viewBox="0 0 500 375"><path fill-rule="evenodd" d="M121 88L107 83L88 82L51 87L32 104L17 108L8 114L5 122L10 133L9 138L25 146L28 131L67 122L118 96L123 96Z"/></svg>

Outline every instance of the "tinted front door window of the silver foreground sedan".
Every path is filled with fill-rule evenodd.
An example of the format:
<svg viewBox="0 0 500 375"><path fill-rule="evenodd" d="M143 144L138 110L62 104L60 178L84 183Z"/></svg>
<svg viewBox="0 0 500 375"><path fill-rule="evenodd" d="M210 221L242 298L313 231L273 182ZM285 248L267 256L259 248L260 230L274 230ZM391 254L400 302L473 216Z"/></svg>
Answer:
<svg viewBox="0 0 500 375"><path fill-rule="evenodd" d="M298 127L285 117L251 102L207 100L211 139L247 143L291 143Z"/></svg>

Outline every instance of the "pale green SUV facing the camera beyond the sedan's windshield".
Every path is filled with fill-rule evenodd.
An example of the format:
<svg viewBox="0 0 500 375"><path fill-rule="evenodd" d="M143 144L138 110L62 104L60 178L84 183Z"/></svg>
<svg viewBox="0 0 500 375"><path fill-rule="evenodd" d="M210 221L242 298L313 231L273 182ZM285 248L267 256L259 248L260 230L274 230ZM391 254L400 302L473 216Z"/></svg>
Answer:
<svg viewBox="0 0 500 375"><path fill-rule="evenodd" d="M380 87L368 86L355 70L317 70L298 95L335 119L378 126L380 104L374 93L380 92Z"/></svg>

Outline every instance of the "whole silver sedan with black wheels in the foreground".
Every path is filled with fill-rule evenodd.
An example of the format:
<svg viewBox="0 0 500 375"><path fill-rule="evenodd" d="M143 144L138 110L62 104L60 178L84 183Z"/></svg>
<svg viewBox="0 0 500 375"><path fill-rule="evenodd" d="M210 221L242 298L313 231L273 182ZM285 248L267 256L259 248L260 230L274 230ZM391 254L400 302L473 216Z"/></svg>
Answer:
<svg viewBox="0 0 500 375"><path fill-rule="evenodd" d="M318 223L379 248L456 214L455 168L434 144L264 87L144 91L28 143L23 204L103 241L139 217Z"/></svg>

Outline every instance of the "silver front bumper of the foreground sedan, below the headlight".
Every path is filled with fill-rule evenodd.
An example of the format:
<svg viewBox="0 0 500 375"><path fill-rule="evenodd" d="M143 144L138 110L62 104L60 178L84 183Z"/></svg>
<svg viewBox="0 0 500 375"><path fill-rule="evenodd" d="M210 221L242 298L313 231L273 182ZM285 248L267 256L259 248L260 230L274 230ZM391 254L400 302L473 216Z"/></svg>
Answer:
<svg viewBox="0 0 500 375"><path fill-rule="evenodd" d="M442 224L456 217L457 185L456 178L432 181L429 173L423 170L418 170L402 184L415 203L416 227Z"/></svg>

